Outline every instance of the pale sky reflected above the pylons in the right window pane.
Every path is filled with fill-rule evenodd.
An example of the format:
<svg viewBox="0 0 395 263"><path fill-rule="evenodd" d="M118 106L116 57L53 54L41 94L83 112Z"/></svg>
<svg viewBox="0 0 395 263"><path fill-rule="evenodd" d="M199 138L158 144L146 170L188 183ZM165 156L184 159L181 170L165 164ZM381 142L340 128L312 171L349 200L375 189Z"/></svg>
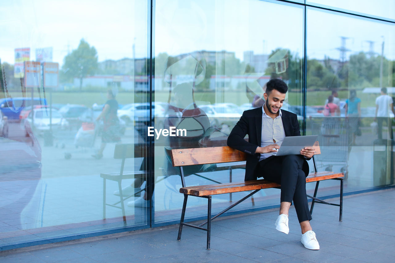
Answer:
<svg viewBox="0 0 395 263"><path fill-rule="evenodd" d="M384 40L384 56L395 59L395 24L308 9L306 34L309 58L322 59L326 54L339 59L340 51L336 48L341 46L343 36L348 37L345 47L350 49L346 57L360 51L369 52L368 41L374 41L374 53L381 54Z"/></svg>

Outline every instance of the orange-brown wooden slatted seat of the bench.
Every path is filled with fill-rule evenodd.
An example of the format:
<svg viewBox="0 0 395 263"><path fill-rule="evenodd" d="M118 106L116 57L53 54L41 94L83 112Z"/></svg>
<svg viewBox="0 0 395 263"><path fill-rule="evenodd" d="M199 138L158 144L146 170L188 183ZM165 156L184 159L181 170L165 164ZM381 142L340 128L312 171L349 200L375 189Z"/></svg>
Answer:
<svg viewBox="0 0 395 263"><path fill-rule="evenodd" d="M343 173L334 173L334 172L318 172L318 173L310 173L308 177L306 177L306 182L316 182L327 179L344 177ZM188 195L194 196L204 196L204 195L217 195L221 193L236 193L257 189L266 189L266 188L274 188L279 187L280 184L275 182L271 182L268 180L253 180L246 182L233 182L233 183L224 183L224 184L208 184L202 186L189 186L180 188L180 193L185 193Z"/></svg>

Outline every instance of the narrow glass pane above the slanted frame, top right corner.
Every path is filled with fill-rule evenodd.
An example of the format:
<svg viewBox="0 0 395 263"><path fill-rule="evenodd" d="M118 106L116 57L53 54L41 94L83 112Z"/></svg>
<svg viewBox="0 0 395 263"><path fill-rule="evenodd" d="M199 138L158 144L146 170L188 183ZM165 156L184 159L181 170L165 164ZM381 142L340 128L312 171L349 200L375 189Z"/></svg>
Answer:
<svg viewBox="0 0 395 263"><path fill-rule="evenodd" d="M310 0L306 4L395 20L395 2L387 0Z"/></svg>

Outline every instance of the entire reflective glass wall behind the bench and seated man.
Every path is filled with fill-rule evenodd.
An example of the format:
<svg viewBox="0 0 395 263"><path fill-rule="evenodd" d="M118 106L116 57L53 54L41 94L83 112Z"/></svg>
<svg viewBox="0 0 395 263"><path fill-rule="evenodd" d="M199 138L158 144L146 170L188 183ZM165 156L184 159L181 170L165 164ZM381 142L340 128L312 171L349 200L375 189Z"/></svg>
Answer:
<svg viewBox="0 0 395 263"><path fill-rule="evenodd" d="M392 4L8 2L0 4L0 250L175 224L183 196L169 150L226 145L243 111L263 105L271 78L288 84L282 109L297 114L301 132L318 134L320 171L344 172L345 192L393 184ZM160 131L170 127L185 133ZM194 186L241 181L245 170L185 173ZM322 182L319 195L337 195L338 185ZM245 194L216 195L213 213ZM261 190L230 212L278 205L279 195ZM205 200L188 205L186 218L206 216Z"/></svg>

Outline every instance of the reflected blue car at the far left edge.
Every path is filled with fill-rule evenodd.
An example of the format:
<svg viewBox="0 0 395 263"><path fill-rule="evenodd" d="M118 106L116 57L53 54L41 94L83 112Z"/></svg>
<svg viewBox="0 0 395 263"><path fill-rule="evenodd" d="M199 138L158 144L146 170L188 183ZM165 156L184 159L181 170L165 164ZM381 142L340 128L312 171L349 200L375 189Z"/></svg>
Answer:
<svg viewBox="0 0 395 263"><path fill-rule="evenodd" d="M33 103L32 103L33 102ZM25 107L33 105L47 105L45 98L4 98L0 101L0 110L8 120L19 120L19 115Z"/></svg>

